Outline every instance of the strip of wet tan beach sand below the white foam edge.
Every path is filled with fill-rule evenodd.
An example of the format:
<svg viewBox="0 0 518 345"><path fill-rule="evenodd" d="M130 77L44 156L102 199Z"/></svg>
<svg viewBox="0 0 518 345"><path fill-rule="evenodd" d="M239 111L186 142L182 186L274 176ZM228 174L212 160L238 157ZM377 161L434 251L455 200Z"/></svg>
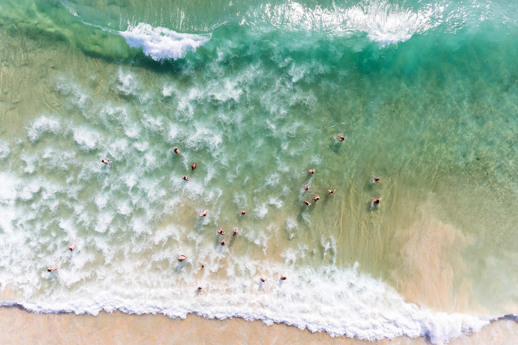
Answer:
<svg viewBox="0 0 518 345"><path fill-rule="evenodd" d="M206 319L189 314L186 319L171 319L160 314L126 314L120 311L100 312L98 316L73 313L33 313L21 307L1 307L0 342L3 344L53 343L138 343L138 344L340 344L340 345L420 345L423 338L366 340L332 338L327 333L311 333L285 324L266 325L262 321ZM8 320L8 322L6 322ZM16 326L13 326L16 325ZM451 345L515 344L518 323L499 320L478 333L450 341Z"/></svg>

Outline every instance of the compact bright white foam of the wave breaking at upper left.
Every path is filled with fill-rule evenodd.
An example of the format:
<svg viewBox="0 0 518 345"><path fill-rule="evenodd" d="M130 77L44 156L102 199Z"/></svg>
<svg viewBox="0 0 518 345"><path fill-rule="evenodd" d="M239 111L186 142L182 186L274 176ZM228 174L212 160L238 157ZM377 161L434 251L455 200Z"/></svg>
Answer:
<svg viewBox="0 0 518 345"><path fill-rule="evenodd" d="M210 40L211 35L181 34L165 27L152 27L146 23L130 26L120 35L128 46L142 48L144 54L155 61L179 59L190 51L196 51Z"/></svg>

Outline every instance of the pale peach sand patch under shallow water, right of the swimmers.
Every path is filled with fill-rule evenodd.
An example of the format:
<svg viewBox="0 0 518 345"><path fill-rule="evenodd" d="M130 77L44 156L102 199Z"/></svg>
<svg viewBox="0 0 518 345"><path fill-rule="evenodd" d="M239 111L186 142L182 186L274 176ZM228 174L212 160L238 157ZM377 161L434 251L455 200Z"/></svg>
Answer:
<svg viewBox="0 0 518 345"><path fill-rule="evenodd" d="M461 253L470 244L468 236L452 224L433 216L430 196L416 212L413 224L399 233L402 265L392 272L397 291L405 301L422 308L449 313L481 313L472 301L468 268Z"/></svg>

